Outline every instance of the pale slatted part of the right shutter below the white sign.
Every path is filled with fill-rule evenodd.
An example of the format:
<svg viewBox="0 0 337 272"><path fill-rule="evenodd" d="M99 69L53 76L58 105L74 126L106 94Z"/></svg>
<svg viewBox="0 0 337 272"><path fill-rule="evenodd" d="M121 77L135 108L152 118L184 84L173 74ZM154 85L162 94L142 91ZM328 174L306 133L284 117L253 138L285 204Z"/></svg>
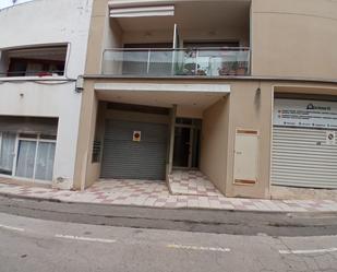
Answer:
<svg viewBox="0 0 337 272"><path fill-rule="evenodd" d="M337 188L337 145L326 130L274 127L272 184Z"/></svg>

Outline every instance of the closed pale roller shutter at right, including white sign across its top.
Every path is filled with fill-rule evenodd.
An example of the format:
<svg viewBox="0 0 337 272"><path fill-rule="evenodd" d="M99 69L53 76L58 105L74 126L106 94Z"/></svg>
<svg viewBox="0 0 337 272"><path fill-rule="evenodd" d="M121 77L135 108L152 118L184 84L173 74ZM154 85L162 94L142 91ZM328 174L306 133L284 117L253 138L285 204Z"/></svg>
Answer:
<svg viewBox="0 0 337 272"><path fill-rule="evenodd" d="M337 103L275 99L272 184L337 188Z"/></svg>

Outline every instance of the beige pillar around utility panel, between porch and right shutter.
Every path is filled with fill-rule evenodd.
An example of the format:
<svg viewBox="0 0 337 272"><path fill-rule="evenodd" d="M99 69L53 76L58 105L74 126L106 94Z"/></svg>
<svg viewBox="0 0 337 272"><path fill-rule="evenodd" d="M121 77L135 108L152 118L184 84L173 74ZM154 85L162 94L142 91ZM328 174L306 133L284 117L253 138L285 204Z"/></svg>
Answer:
<svg viewBox="0 0 337 272"><path fill-rule="evenodd" d="M257 91L258 87L261 92ZM226 196L268 198L273 109L272 83L232 82L229 109ZM257 182L255 185L233 185L237 129L257 130L260 133Z"/></svg>

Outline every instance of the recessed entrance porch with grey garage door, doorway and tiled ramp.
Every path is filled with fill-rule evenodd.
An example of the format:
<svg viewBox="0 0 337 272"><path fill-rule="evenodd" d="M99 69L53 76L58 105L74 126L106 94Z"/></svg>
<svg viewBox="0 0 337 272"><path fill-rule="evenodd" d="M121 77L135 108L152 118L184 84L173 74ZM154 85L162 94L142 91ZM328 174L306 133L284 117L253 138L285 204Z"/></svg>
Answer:
<svg viewBox="0 0 337 272"><path fill-rule="evenodd" d="M77 188L99 179L140 179L171 184L173 194L210 196L218 193L215 187L225 193L230 85L98 82L92 84L92 123L83 131L89 131L82 161L87 166Z"/></svg>

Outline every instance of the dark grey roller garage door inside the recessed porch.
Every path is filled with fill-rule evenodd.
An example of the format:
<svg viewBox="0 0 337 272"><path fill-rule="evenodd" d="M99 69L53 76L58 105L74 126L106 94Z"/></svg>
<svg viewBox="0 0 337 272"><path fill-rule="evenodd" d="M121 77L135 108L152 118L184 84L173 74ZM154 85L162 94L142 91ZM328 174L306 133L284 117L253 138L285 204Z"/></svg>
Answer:
<svg viewBox="0 0 337 272"><path fill-rule="evenodd" d="M141 131L140 142L134 131ZM164 180L167 135L167 125L107 120L101 178Z"/></svg>

